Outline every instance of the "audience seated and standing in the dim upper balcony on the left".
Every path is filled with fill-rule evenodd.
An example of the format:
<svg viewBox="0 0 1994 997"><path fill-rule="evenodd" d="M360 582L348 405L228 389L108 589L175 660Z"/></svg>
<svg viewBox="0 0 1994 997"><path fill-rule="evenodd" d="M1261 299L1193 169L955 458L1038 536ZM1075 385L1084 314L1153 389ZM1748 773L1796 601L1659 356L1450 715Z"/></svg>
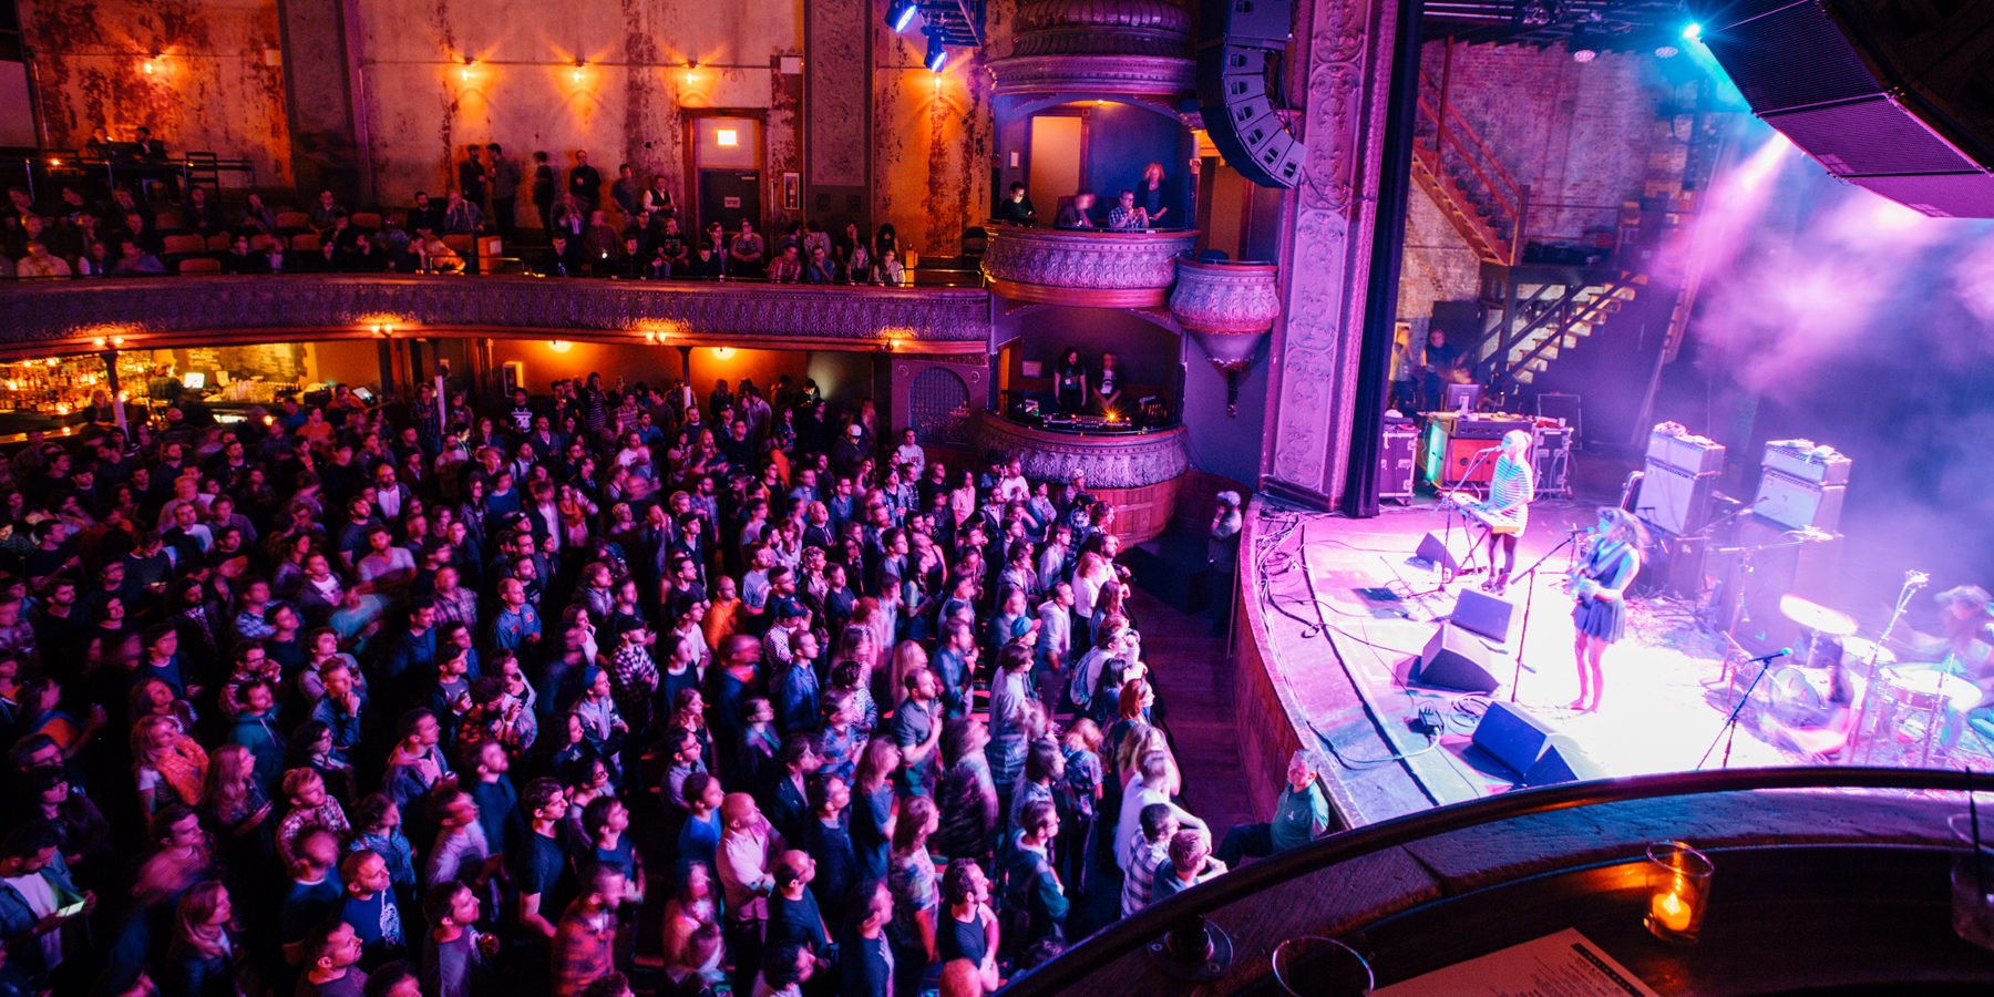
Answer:
<svg viewBox="0 0 1994 997"><path fill-rule="evenodd" d="M177 273L185 259L221 273L451 273L479 263L477 235L516 235L524 185L538 215L544 251L520 251L522 267L552 277L766 279L774 283L909 283L893 225L831 233L820 221L792 221L772 239L742 219L734 231L710 221L680 231L668 179L644 185L630 164L602 191L586 152L560 183L544 152L532 171L498 144L467 146L457 183L441 197L415 191L401 211L353 211L319 191L301 219L281 223L259 193L223 207L221 195L187 185L185 199L152 205L138 187L94 191L64 183L48 199L10 187L0 217L0 277L126 277ZM98 197L102 193L102 197ZM183 245L191 237L191 243ZM473 239L467 243L465 239Z"/></svg>

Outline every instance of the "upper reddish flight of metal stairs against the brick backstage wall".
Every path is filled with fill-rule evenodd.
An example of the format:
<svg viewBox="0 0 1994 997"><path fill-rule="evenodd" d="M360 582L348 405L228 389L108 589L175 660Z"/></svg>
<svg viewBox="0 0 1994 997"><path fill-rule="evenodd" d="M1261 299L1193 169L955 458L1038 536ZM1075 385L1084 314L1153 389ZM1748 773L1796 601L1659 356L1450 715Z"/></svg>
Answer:
<svg viewBox="0 0 1994 997"><path fill-rule="evenodd" d="M1418 104L1414 183L1476 255L1488 263L1515 263L1523 251L1529 187L1503 169L1474 126L1448 106L1444 88L1424 72Z"/></svg>

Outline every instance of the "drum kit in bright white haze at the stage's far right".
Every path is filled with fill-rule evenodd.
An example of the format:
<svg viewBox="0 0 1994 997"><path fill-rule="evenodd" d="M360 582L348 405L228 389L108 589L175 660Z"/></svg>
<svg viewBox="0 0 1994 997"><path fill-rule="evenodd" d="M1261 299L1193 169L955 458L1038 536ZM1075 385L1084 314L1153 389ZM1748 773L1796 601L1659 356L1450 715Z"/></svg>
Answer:
<svg viewBox="0 0 1994 997"><path fill-rule="evenodd" d="M1980 704L1980 688L1948 662L1900 662L1880 640L1856 636L1846 612L1793 594L1781 596L1779 612L1801 626L1805 640L1793 648L1795 664L1775 664L1761 682L1759 730L1769 740L1842 726L1846 750L1836 752L1842 762L1860 756L1868 764L1878 750L1894 750L1908 762L1916 750L1916 764L1926 766L1934 750L1946 752L1938 744L1946 712L1964 714ZM1751 678L1749 670L1733 670L1733 694L1743 694Z"/></svg>

